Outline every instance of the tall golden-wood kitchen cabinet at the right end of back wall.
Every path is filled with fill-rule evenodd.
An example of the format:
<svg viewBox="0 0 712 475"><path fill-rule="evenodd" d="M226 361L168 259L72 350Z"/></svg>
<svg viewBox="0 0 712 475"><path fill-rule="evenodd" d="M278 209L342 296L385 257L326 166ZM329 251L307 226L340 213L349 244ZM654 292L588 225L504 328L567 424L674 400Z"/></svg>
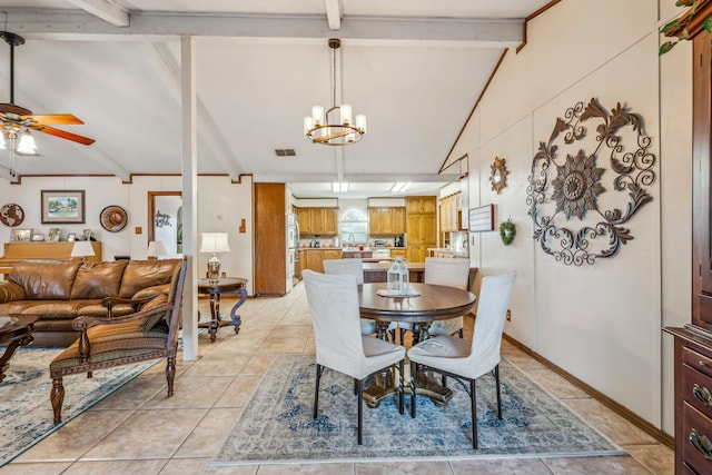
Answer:
<svg viewBox="0 0 712 475"><path fill-rule="evenodd" d="M434 196L406 198L408 232L406 257L412 263L425 261L427 248L436 246L435 207Z"/></svg>

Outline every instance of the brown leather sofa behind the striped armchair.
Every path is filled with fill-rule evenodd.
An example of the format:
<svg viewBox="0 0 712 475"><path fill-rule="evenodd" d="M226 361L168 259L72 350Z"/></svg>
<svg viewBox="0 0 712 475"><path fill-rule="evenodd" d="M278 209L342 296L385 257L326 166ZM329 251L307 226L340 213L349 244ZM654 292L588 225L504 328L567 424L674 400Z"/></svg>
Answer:
<svg viewBox="0 0 712 475"><path fill-rule="evenodd" d="M0 281L0 314L32 314L34 345L68 346L79 337L72 320L80 316L106 316L105 297L146 299L168 291L180 259L23 260L13 264L8 280ZM136 311L117 304L112 315Z"/></svg>

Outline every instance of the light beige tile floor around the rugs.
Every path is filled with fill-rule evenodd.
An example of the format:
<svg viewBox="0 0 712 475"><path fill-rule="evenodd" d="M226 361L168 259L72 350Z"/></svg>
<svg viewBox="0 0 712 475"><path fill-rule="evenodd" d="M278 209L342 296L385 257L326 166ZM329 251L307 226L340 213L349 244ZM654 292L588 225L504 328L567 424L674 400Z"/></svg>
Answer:
<svg viewBox="0 0 712 475"><path fill-rule="evenodd" d="M222 309L230 305L224 299ZM207 311L205 300L200 307ZM174 397L166 397L165 365L160 363L1 468L2 475L674 472L671 448L506 342L502 350L512 363L621 445L630 456L208 467L275 356L315 350L300 284L281 298L250 298L239 314L243 317L239 335L235 335L231 327L221 328L215 343L201 335L198 360L179 362ZM468 325L472 328L472 320Z"/></svg>

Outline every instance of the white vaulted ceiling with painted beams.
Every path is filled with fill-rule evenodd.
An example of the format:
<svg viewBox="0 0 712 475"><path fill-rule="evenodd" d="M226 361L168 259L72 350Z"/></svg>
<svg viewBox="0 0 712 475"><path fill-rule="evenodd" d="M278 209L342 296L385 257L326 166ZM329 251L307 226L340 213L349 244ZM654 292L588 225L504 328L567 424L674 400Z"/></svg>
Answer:
<svg viewBox="0 0 712 475"><path fill-rule="evenodd" d="M506 48L547 0L0 0L14 102L70 112L81 146L34 133L40 157L0 150L0 176L179 174L180 38L195 37L198 171L293 184L300 197L437 189L438 175ZM4 18L3 18L4 17ZM312 144L303 117L332 106L328 38L340 38L344 102L368 118L347 147ZM0 102L10 47L0 43ZM277 149L294 149L279 157ZM449 157L451 160L456 157ZM11 176L9 168L16 172Z"/></svg>

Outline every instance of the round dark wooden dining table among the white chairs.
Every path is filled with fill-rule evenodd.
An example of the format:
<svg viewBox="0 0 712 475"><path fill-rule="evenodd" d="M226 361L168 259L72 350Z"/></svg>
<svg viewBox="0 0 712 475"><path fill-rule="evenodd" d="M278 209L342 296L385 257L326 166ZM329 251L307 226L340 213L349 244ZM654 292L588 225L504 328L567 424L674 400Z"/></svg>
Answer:
<svg viewBox="0 0 712 475"><path fill-rule="evenodd" d="M414 343L428 337L428 328L435 320L462 317L475 306L473 293L455 287L433 284L411 284L417 296L384 297L378 290L386 290L387 284L363 284L358 286L358 306L362 318L376 320L377 336L386 338L392 321L413 324ZM377 407L387 397L398 394L393 374L383 374L364 390L368 407ZM418 375L417 394L425 395L437 405L446 405L453 394L437 384L432 375Z"/></svg>

